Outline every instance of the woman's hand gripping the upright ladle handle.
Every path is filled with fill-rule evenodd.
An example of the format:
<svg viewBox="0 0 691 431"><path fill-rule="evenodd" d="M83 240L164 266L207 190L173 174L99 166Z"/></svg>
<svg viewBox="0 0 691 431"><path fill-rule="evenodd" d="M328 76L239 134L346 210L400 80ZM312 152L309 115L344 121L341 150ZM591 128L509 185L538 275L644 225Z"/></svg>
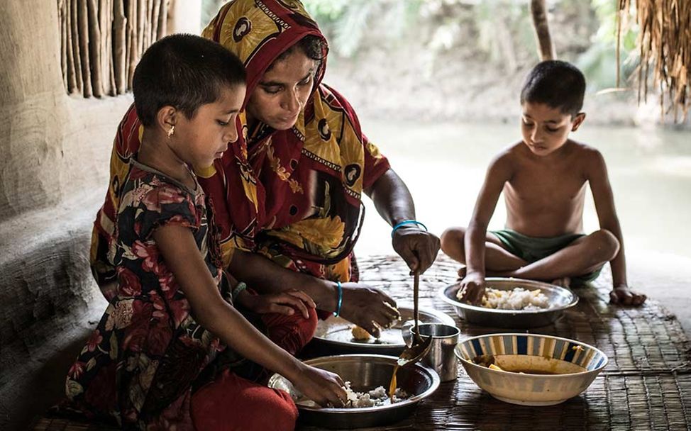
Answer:
<svg viewBox="0 0 691 431"><path fill-rule="evenodd" d="M401 226L394 232L392 245L411 272L422 274L434 263L441 242L436 235L409 225Z"/></svg>

